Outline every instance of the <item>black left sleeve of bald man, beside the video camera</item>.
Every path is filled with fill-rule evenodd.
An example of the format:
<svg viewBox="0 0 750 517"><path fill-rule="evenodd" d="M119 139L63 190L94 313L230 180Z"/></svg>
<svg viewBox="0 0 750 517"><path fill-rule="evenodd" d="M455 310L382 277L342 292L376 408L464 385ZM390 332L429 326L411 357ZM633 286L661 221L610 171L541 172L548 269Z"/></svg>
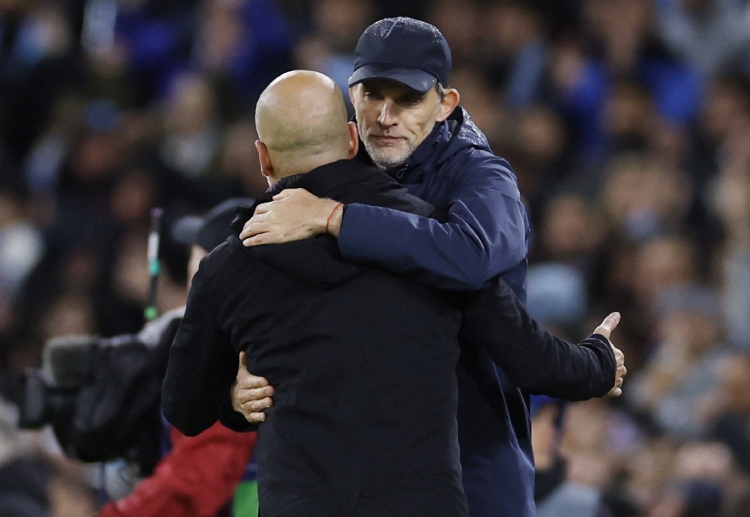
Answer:
<svg viewBox="0 0 750 517"><path fill-rule="evenodd" d="M169 349L162 386L162 411L170 424L188 436L211 427L235 377L237 357L216 318L210 293L210 260L193 277L185 316Z"/></svg>

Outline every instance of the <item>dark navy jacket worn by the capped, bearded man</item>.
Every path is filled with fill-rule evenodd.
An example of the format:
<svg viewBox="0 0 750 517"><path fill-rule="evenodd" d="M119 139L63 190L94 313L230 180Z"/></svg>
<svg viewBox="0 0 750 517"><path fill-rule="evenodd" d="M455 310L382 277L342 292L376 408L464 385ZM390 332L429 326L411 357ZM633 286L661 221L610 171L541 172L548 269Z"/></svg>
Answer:
<svg viewBox="0 0 750 517"><path fill-rule="evenodd" d="M530 227L515 174L492 154L463 108L388 171L447 222L382 207L346 207L344 258L405 272L429 285L477 289L500 275L526 298ZM485 351L459 369L459 441L472 517L531 517L534 459L528 396Z"/></svg>

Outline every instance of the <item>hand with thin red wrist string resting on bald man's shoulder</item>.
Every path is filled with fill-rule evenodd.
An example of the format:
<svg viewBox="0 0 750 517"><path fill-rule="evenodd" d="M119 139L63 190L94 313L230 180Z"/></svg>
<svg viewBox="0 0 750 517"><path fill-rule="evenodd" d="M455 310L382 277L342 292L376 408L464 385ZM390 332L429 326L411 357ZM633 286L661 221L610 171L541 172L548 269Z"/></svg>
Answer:
<svg viewBox="0 0 750 517"><path fill-rule="evenodd" d="M326 225L328 233L338 237L342 218L341 208L336 209L338 205L305 189L284 190L273 201L258 205L245 223L240 239L245 246L298 241L326 233Z"/></svg>

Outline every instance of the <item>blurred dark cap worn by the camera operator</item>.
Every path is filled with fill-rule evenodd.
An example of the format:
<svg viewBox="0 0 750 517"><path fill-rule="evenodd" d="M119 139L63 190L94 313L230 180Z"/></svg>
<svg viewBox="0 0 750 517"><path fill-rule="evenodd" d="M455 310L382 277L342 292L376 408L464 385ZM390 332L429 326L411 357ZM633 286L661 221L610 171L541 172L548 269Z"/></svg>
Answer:
<svg viewBox="0 0 750 517"><path fill-rule="evenodd" d="M211 251L232 233L230 225L237 215L237 207L249 207L252 204L252 199L236 197L213 207L203 217L182 217L172 227L172 239L187 246L197 244L204 250Z"/></svg>

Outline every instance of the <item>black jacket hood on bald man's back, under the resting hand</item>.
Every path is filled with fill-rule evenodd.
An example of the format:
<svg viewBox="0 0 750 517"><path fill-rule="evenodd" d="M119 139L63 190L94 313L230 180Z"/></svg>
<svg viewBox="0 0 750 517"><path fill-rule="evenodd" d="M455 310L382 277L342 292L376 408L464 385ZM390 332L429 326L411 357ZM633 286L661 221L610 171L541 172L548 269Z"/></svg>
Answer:
<svg viewBox="0 0 750 517"><path fill-rule="evenodd" d="M328 192L324 185L333 182L340 187L342 184L355 183L361 179L361 174L372 174L372 172L363 164L352 160L341 160L318 167L307 174L282 178L260 196L252 207L237 208L237 216L232 222L233 234L229 238L230 245L301 282L324 289L348 282L362 274L367 268L344 261L336 239L330 235L318 235L300 241L247 248L240 242L239 234L258 205L271 201L273 196L282 190L304 188L319 197L327 197Z"/></svg>

